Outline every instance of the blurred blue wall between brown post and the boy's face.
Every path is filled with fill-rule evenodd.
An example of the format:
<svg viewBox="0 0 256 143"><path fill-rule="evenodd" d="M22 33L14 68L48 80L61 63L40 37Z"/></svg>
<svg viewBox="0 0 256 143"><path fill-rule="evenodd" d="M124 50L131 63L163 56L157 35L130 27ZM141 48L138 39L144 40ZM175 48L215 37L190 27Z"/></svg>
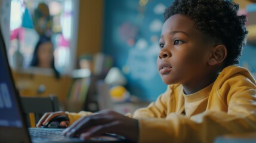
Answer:
<svg viewBox="0 0 256 143"><path fill-rule="evenodd" d="M124 71L131 94L143 100L154 101L166 89L156 69L161 29L150 30L150 24L164 21L163 13L154 13L156 5L171 3L150 0L141 7L138 0L105 1L103 52Z"/></svg>

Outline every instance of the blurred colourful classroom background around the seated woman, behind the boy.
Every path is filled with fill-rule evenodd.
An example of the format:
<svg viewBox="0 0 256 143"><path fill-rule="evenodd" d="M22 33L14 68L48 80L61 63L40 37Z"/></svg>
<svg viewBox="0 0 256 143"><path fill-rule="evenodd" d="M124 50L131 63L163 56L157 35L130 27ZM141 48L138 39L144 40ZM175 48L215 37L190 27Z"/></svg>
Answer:
<svg viewBox="0 0 256 143"><path fill-rule="evenodd" d="M1 0L1 26L21 96L57 95L62 110L128 113L155 101L166 85L156 69L158 41L169 0ZM30 67L35 21L49 8L55 66ZM256 1L234 0L248 15L248 42L239 66L256 73ZM42 8L44 11L44 8ZM8 27L8 28L7 28Z"/></svg>

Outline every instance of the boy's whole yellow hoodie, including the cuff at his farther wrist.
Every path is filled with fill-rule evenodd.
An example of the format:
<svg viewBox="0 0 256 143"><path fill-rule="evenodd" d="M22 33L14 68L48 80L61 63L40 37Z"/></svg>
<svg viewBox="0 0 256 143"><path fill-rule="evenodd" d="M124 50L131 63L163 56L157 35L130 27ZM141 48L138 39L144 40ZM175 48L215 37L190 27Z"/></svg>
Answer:
<svg viewBox="0 0 256 143"><path fill-rule="evenodd" d="M88 112L69 113L70 123ZM213 142L217 136L256 131L256 83L248 70L229 66L191 95L180 84L134 112L139 142Z"/></svg>

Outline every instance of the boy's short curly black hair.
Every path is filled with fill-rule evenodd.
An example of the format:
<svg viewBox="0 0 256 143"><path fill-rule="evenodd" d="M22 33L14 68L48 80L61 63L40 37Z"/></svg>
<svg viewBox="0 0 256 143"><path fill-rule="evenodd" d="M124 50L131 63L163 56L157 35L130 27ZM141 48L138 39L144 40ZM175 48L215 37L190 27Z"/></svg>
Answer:
<svg viewBox="0 0 256 143"><path fill-rule="evenodd" d="M221 41L227 48L224 67L238 64L248 33L246 16L238 16L239 5L222 0L175 0L166 8L165 21L175 14L184 14L195 21L197 29Z"/></svg>

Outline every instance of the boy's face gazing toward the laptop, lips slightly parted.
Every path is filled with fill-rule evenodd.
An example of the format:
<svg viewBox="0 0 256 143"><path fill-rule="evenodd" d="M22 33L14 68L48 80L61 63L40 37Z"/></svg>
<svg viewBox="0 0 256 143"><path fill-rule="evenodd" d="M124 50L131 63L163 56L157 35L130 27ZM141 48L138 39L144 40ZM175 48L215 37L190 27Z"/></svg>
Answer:
<svg viewBox="0 0 256 143"><path fill-rule="evenodd" d="M214 47L205 37L186 15L175 14L165 21L157 64L166 84L193 85L200 82Z"/></svg>

